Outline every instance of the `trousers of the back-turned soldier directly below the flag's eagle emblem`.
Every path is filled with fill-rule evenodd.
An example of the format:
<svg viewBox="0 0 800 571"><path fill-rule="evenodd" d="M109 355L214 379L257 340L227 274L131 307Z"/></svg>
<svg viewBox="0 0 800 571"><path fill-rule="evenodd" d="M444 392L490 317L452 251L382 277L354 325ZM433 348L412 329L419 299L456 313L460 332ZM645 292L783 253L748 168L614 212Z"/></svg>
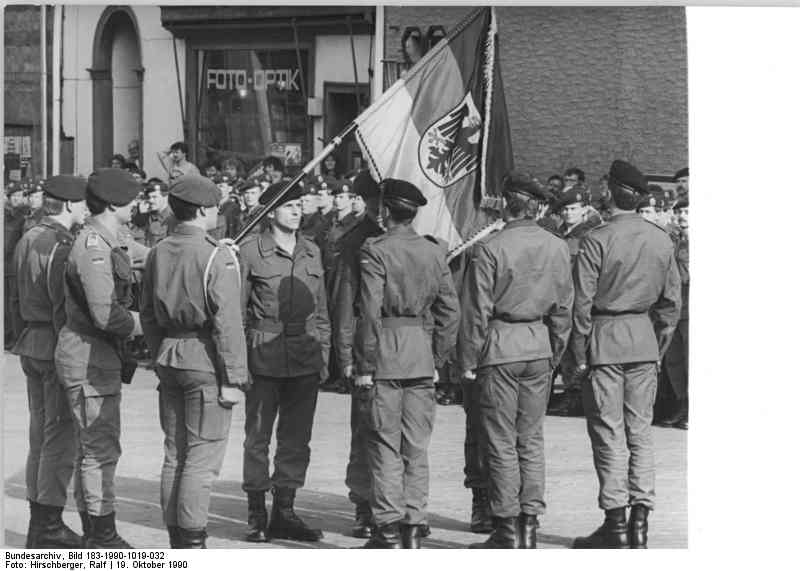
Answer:
<svg viewBox="0 0 800 571"><path fill-rule="evenodd" d="M379 526L419 525L428 508L428 444L436 415L433 379L376 380L371 389L367 454L370 507Z"/></svg>

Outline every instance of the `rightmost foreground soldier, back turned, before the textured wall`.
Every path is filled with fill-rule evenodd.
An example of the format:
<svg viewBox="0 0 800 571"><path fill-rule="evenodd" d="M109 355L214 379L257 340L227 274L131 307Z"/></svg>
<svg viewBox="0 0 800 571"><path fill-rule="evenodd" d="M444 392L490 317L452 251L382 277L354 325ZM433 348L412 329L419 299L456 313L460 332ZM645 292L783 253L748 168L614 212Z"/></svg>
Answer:
<svg viewBox="0 0 800 571"><path fill-rule="evenodd" d="M581 241L573 270L572 348L600 481L604 523L574 548L646 548L655 499L653 403L657 368L680 315L680 276L666 231L636 214L644 176L609 172L612 216ZM651 321L652 318L652 321ZM626 507L631 506L630 524Z"/></svg>

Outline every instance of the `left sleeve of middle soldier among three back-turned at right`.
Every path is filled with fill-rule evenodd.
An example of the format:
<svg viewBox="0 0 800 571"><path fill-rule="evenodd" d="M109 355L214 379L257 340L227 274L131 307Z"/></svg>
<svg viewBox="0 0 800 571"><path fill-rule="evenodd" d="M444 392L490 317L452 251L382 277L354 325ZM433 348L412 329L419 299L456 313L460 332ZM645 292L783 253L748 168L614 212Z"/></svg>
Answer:
<svg viewBox="0 0 800 571"><path fill-rule="evenodd" d="M478 356L486 344L489 319L494 309L497 264L483 244L478 243L467 265L461 288L461 327L458 333L458 361L464 371L478 366Z"/></svg>

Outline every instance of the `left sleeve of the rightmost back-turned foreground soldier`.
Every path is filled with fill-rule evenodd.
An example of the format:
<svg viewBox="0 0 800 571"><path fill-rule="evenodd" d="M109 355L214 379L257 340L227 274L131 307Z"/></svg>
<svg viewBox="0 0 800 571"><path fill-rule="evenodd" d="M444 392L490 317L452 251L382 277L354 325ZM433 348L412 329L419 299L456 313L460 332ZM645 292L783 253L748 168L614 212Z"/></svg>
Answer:
<svg viewBox="0 0 800 571"><path fill-rule="evenodd" d="M603 261L603 249L596 239L587 235L581 240L572 281L575 287L575 303L572 310L572 347L576 365L587 362L587 339L592 331L592 305L597 294L597 280Z"/></svg>

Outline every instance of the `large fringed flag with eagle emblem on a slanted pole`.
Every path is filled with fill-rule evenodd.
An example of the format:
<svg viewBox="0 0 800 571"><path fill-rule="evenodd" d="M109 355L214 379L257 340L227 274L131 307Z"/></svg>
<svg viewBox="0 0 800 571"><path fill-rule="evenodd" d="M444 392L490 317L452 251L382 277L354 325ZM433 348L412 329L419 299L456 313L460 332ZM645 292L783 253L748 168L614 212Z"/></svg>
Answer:
<svg viewBox="0 0 800 571"><path fill-rule="evenodd" d="M488 222L481 204L513 168L498 51L494 9L475 10L355 119L372 176L416 185L415 230L451 248Z"/></svg>

